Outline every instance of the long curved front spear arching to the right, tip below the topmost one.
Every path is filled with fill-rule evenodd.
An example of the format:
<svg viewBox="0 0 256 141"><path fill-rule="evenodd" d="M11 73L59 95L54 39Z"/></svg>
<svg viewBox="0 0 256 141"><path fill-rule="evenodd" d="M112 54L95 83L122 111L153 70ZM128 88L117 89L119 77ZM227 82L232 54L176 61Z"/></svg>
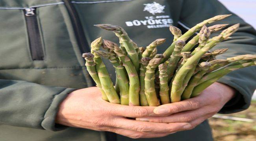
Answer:
<svg viewBox="0 0 256 141"><path fill-rule="evenodd" d="M184 90L183 84L184 79L189 71L193 69L194 65L198 63L200 58L208 52L212 47L214 47L217 43L224 40L224 38L229 37L234 32L237 31L239 27L239 24L233 25L229 27L228 29L225 29L219 36L213 37L213 40L209 43L207 43L200 51L196 52L191 58L187 60L187 62L180 68L180 70L176 73L176 76L173 80L173 85L171 89L171 100L172 102L180 101L180 96ZM192 73L193 74L193 73ZM190 78L186 77L186 80L189 80Z"/></svg>

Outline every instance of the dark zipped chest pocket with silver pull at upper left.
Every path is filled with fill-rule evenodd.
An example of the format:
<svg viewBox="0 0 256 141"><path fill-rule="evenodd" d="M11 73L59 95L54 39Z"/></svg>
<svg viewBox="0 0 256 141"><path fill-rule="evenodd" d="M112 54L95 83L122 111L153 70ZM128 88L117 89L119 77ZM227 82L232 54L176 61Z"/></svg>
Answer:
<svg viewBox="0 0 256 141"><path fill-rule="evenodd" d="M44 60L43 45L41 42L41 36L39 33L39 27L37 23L37 16L35 8L24 9L25 20L28 31L28 40L30 46L30 53L32 60L40 61Z"/></svg>

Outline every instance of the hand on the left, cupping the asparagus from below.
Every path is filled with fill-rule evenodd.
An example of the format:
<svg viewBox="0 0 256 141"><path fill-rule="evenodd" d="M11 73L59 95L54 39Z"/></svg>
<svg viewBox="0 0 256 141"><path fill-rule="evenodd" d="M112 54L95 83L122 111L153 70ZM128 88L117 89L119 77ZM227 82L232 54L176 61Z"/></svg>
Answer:
<svg viewBox="0 0 256 141"><path fill-rule="evenodd" d="M67 96L59 106L56 123L115 132L131 138L163 137L191 128L189 123L153 123L126 118L156 116L154 108L109 103L101 98L97 87L90 87Z"/></svg>

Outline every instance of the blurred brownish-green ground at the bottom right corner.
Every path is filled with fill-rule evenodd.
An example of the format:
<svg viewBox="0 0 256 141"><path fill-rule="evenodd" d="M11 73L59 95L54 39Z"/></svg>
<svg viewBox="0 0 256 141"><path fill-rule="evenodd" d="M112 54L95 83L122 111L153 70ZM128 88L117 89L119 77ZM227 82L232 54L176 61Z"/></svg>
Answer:
<svg viewBox="0 0 256 141"><path fill-rule="evenodd" d="M252 101L249 109L225 116L242 117L256 120L256 101ZM256 141L256 122L234 121L211 117L209 123L212 127L215 141Z"/></svg>

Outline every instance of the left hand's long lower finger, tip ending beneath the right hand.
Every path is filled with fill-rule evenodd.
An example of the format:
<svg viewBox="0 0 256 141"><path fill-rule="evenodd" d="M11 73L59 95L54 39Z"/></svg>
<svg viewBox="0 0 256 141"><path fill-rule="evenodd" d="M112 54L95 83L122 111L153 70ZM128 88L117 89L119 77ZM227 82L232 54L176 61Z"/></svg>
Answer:
<svg viewBox="0 0 256 141"><path fill-rule="evenodd" d="M153 123L146 121L136 121L133 119L125 119L123 117L113 119L110 122L112 127L134 130L137 132L149 133L171 133L191 128L189 123Z"/></svg>

